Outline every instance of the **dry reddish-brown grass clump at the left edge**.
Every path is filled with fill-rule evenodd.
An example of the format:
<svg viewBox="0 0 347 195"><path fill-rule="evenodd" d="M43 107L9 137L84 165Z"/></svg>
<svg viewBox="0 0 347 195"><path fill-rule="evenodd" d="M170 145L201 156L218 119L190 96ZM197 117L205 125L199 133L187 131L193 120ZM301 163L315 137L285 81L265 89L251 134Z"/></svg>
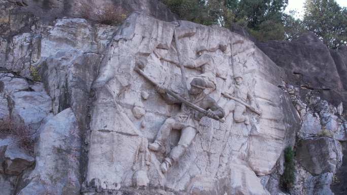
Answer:
<svg viewBox="0 0 347 195"><path fill-rule="evenodd" d="M15 123L9 117L0 121L0 135L12 136L17 140L19 147L33 152L34 141L30 136L30 129L25 125Z"/></svg>

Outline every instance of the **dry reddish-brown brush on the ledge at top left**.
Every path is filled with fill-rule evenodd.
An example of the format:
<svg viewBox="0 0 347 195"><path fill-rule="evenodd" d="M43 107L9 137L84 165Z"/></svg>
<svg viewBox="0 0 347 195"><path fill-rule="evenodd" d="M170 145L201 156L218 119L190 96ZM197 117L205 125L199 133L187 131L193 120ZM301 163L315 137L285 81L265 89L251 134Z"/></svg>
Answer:
<svg viewBox="0 0 347 195"><path fill-rule="evenodd" d="M81 4L81 15L85 19L108 25L118 25L126 19L124 9L112 3L97 5L84 2Z"/></svg>

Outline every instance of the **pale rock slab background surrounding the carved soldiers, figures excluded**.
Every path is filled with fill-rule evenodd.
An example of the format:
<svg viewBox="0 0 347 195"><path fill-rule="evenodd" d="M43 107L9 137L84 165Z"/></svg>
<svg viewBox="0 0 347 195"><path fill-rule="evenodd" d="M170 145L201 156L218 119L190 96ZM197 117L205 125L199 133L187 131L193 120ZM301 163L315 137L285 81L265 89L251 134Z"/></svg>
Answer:
<svg viewBox="0 0 347 195"><path fill-rule="evenodd" d="M174 35L179 37L178 49ZM177 112L178 106L168 105L133 69L136 64L145 64L146 74L180 92L179 58L184 62L197 59L196 51L201 46L207 48L216 66L217 89L210 96L225 107L228 99L221 97L221 92L235 85L232 76L241 73L263 114L247 112L251 120L248 126L234 122L232 112L227 113L224 124L203 118L200 133L187 152L162 174L159 165L177 144L180 131L172 132L164 154L149 149L138 151L140 145L155 139L162 123ZM192 68L186 70L188 80L200 74ZM133 175L145 170L149 186L175 193L268 194L257 175L271 173L287 144L286 132L295 132L296 125L290 124L299 123L290 111L294 109L289 98L277 87L281 75L284 72L253 42L224 28L186 21L167 23L140 13L131 15L114 37L94 83L96 100L83 192L136 186ZM142 98L143 91L148 92L147 99ZM137 115L134 107L142 107L144 115ZM146 165L141 165L143 158Z"/></svg>

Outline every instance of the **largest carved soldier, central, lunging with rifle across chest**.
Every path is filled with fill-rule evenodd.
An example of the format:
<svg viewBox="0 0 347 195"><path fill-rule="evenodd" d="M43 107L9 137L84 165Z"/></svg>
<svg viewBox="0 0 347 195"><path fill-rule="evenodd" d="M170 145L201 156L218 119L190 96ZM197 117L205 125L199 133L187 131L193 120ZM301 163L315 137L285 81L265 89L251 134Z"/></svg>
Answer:
<svg viewBox="0 0 347 195"><path fill-rule="evenodd" d="M203 93L203 90L208 87L203 79L193 79L190 86L189 96L191 103L207 110L207 116L209 117L217 116L220 119L224 117L224 110L217 105L214 99ZM166 173L172 163L177 162L181 155L186 151L187 147L191 144L198 132L197 128L199 127L199 121L204 115L191 109L177 99L165 94L165 90L162 87L158 87L157 91L162 94L162 97L168 103L181 104L180 112L166 119L164 124L161 126L155 141L149 145L150 150L158 151L169 137L171 129L181 130L181 137L178 145L172 148L168 156L160 165L161 171ZM180 95L185 97L184 94Z"/></svg>

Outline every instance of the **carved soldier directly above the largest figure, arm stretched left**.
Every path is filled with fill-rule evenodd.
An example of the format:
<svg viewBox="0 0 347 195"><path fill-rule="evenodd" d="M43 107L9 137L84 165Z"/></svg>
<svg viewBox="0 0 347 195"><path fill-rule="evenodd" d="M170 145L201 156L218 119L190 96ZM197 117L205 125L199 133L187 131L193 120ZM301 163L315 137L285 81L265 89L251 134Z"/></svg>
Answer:
<svg viewBox="0 0 347 195"><path fill-rule="evenodd" d="M183 65L188 68L201 68L202 74L194 77L200 77L206 82L207 88L215 90L217 86L216 66L211 55L209 54L209 51L206 49L206 47L201 46L196 50L196 53L198 55L197 59Z"/></svg>

